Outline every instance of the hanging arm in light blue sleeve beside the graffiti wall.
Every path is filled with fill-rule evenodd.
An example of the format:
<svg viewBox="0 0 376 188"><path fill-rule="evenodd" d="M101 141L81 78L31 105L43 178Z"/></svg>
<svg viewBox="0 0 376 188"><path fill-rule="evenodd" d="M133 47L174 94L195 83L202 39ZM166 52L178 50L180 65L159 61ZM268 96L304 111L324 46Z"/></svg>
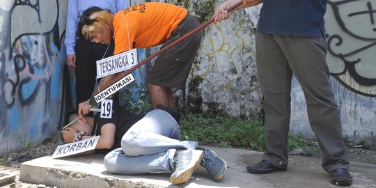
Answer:
<svg viewBox="0 0 376 188"><path fill-rule="evenodd" d="M65 47L67 49L68 66L76 66L76 29L79 19L77 0L69 0L67 12L67 24L65 27Z"/></svg>

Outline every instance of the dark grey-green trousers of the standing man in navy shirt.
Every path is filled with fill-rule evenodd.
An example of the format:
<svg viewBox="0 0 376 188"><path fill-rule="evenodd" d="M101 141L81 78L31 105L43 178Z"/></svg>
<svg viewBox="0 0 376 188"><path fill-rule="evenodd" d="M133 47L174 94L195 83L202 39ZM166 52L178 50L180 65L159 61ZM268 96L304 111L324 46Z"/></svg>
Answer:
<svg viewBox="0 0 376 188"><path fill-rule="evenodd" d="M322 167L329 172L348 169L340 112L329 82L324 38L256 33L256 61L264 96L267 152L277 167L288 164L291 80L295 75L304 92L308 119L323 153Z"/></svg>

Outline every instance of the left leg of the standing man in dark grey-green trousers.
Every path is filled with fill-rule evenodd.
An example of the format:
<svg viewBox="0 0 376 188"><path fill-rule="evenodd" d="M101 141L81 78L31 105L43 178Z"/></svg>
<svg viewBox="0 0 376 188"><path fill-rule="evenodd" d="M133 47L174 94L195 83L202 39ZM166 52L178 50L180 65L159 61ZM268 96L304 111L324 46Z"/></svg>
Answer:
<svg viewBox="0 0 376 188"><path fill-rule="evenodd" d="M257 71L264 96L266 148L263 159L283 171L288 165L292 70L277 42L278 36L256 33ZM270 166L270 165L269 165ZM265 170L265 169L263 169ZM269 173L258 171L255 173Z"/></svg>

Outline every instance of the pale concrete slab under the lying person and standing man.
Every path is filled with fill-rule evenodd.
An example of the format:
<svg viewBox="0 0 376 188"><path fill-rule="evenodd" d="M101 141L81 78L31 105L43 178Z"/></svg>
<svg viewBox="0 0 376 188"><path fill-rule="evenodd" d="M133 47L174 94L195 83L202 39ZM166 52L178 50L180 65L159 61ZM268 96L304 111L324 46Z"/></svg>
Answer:
<svg viewBox="0 0 376 188"><path fill-rule="evenodd" d="M265 175L246 171L247 164L259 162L263 153L232 148L211 148L228 163L223 182L214 182L205 169L196 171L185 185L173 186L170 173L114 175L102 164L103 155L41 157L21 165L19 180L50 187L336 187L321 168L321 159L290 156L288 170ZM376 166L352 162L352 187L376 187Z"/></svg>

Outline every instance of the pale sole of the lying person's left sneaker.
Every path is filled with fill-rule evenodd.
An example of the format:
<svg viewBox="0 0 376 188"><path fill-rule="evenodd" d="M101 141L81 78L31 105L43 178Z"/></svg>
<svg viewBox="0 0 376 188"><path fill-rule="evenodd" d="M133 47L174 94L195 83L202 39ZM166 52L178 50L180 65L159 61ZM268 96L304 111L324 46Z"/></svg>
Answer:
<svg viewBox="0 0 376 188"><path fill-rule="evenodd" d="M187 167L186 171L182 171L175 177L170 177L170 182L172 185L180 185L188 182L194 171L198 169L198 165L200 165L201 159L203 159L203 151L193 150L192 157L194 158L191 160L191 163L189 164L189 167Z"/></svg>

